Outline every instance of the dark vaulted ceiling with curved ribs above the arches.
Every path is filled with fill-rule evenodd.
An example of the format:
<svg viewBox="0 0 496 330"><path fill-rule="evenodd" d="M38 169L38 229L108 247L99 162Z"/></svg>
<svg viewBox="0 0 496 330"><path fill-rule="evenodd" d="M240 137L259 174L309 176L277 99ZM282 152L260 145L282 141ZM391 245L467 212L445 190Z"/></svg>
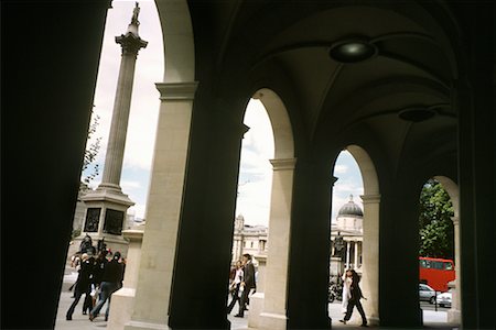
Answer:
<svg viewBox="0 0 496 330"><path fill-rule="evenodd" d="M438 139L455 147L457 36L450 12L435 1L191 0L190 7L202 41L196 53L214 70L284 73L309 140L359 124L398 156L412 142L435 147ZM330 56L352 40L377 53L357 63Z"/></svg>

